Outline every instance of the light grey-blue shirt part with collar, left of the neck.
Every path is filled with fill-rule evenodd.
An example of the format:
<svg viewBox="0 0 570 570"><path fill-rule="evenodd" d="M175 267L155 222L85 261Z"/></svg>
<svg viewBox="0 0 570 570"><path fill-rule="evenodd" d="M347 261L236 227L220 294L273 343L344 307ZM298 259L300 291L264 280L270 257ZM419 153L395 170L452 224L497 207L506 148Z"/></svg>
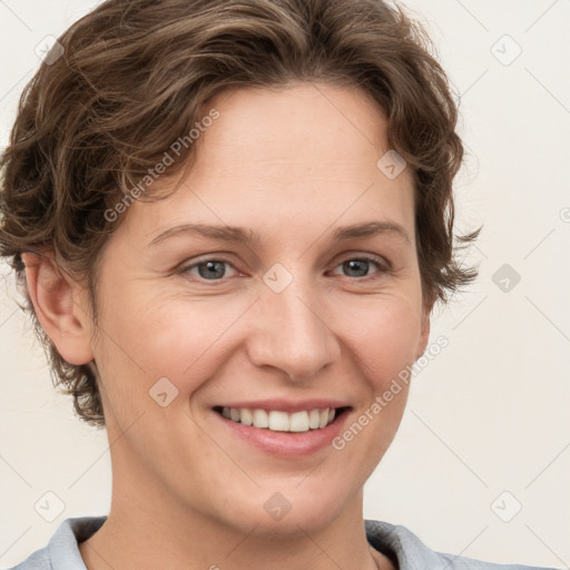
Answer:
<svg viewBox="0 0 570 570"><path fill-rule="evenodd" d="M30 554L23 562L8 570L53 570L58 568L85 569L78 543L94 534L107 517L78 517L66 519L49 542Z"/></svg>

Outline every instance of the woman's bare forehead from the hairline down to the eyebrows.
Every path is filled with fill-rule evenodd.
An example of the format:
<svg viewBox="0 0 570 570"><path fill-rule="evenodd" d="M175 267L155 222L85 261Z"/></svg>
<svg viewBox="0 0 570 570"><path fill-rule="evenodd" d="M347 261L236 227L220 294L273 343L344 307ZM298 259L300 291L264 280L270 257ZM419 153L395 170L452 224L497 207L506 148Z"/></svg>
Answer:
<svg viewBox="0 0 570 570"><path fill-rule="evenodd" d="M413 235L410 169L389 179L387 121L366 92L322 83L236 89L204 107L219 118L168 198L135 204L147 234L184 223L299 230L392 219ZM134 216L131 216L134 215ZM338 224L335 222L338 220Z"/></svg>

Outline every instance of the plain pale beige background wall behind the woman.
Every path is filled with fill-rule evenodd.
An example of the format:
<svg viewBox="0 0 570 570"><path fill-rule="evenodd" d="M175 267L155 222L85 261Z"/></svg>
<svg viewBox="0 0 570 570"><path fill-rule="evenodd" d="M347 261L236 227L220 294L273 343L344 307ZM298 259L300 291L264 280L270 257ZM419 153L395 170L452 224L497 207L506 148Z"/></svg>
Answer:
<svg viewBox="0 0 570 570"><path fill-rule="evenodd" d="M0 1L0 146L39 65L35 47L95 3ZM570 1L405 4L461 95L470 156L456 232L484 224L466 258L481 274L433 315L431 342L443 335L449 346L415 376L364 514L438 551L568 568ZM1 568L43 547L66 518L106 514L110 501L106 434L51 386L7 275L0 264ZM48 492L62 502L51 522L35 509Z"/></svg>

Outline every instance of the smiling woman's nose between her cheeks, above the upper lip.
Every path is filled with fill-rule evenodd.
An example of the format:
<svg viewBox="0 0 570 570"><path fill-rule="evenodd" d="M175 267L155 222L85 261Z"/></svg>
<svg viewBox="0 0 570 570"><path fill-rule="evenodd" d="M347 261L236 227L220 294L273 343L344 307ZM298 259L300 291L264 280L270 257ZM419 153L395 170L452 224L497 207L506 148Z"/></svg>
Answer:
<svg viewBox="0 0 570 570"><path fill-rule="evenodd" d="M281 293L262 282L259 297L247 341L253 364L303 382L338 358L338 340L314 279L296 275Z"/></svg>

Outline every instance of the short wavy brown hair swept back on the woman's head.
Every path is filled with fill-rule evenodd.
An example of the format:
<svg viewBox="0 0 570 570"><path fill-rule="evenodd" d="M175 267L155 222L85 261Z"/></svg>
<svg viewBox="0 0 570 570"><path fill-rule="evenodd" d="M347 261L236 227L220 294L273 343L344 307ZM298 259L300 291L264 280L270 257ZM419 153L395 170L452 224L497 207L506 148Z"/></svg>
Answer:
<svg viewBox="0 0 570 570"><path fill-rule="evenodd" d="M86 279L94 318L101 247L115 208L199 109L227 88L325 81L356 86L385 112L387 139L412 167L422 291L430 306L475 278L455 259L452 181L463 145L450 81L422 26L382 0L108 0L60 38L22 94L1 157L0 255L10 258L77 415L105 425L97 374L71 365L39 324L23 252L57 253ZM188 166L180 148L169 175ZM379 157L380 158L380 157ZM458 237L462 246L481 228Z"/></svg>

